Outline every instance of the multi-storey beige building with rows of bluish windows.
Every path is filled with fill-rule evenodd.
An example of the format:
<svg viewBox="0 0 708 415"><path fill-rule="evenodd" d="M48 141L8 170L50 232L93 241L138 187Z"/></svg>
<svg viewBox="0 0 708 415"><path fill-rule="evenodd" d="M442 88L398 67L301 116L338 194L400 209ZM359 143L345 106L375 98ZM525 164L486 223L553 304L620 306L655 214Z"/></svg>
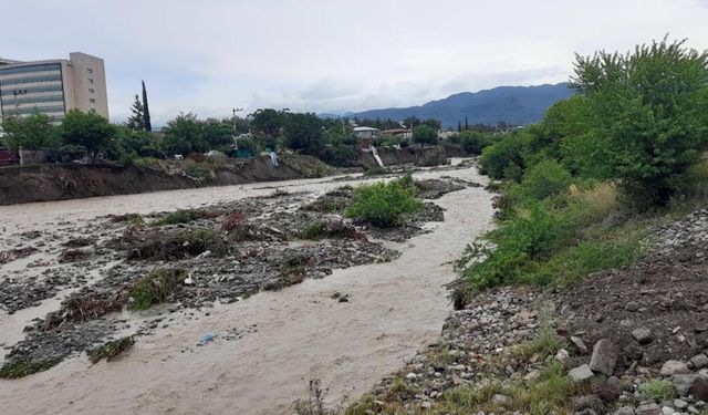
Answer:
<svg viewBox="0 0 708 415"><path fill-rule="evenodd" d="M70 53L69 60L0 59L0 122L2 116L33 113L61 122L74 108L108 118L102 59L80 52Z"/></svg>

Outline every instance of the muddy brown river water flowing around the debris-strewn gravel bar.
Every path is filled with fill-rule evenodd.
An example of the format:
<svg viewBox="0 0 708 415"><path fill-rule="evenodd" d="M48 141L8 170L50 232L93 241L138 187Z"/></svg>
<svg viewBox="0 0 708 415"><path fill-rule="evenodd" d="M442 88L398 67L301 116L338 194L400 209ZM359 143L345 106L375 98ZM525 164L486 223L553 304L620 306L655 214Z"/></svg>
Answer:
<svg viewBox="0 0 708 415"><path fill-rule="evenodd" d="M486 184L475 168L415 175L439 176ZM274 186L324 193L342 185L309 179L30 204L0 207L0 217L7 229L23 231L60 219L198 207L269 194ZM455 278L451 261L491 226L490 195L481 187L435 203L446 209L445 221L397 245L403 255L392 262L335 270L324 279L217 304L208 315L138 338L129 353L111 363L91 365L82 355L48 372L0 381L0 413L290 414L310 376L329 387L329 401L354 398L439 335L449 313L442 286ZM332 300L334 292L348 294L350 302ZM10 330L3 317L0 330ZM223 340L235 328L243 336ZM207 333L216 340L196 346Z"/></svg>

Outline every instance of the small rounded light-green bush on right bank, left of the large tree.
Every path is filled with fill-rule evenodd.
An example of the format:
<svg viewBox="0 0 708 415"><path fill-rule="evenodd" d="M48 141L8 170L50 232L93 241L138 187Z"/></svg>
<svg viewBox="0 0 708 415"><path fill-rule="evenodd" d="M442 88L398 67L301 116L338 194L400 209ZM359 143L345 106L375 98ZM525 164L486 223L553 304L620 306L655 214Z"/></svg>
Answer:
<svg viewBox="0 0 708 415"><path fill-rule="evenodd" d="M568 190L572 176L565 167L552 159L545 159L530 167L523 175L521 191L525 197L544 199Z"/></svg>

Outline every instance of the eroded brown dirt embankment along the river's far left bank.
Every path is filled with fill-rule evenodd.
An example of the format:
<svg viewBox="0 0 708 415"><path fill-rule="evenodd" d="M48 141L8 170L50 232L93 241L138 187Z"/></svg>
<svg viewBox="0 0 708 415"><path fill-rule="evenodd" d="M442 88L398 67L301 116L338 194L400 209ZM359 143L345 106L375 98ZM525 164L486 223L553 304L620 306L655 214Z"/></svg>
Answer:
<svg viewBox="0 0 708 415"><path fill-rule="evenodd" d="M279 167L269 157L225 162L199 175L184 167L165 162L155 167L61 164L2 168L0 205L287 180L327 172L309 156L284 156Z"/></svg>

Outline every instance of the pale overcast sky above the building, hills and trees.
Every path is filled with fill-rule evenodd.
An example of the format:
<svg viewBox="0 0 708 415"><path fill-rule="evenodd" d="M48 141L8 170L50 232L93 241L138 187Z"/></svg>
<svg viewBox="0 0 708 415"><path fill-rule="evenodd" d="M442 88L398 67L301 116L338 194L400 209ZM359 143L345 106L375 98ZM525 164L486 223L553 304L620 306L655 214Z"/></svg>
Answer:
<svg viewBox="0 0 708 415"><path fill-rule="evenodd" d="M105 60L112 121L343 112L566 81L574 52L688 38L708 0L0 0L0 56Z"/></svg>

